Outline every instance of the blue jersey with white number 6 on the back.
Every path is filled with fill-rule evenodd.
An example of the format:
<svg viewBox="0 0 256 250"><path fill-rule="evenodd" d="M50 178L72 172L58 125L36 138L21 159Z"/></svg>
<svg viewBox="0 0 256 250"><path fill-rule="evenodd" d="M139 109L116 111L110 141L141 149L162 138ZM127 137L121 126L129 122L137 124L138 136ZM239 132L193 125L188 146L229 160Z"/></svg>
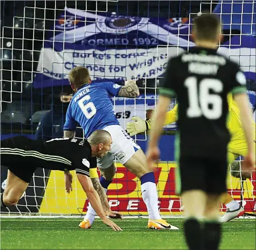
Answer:
<svg viewBox="0 0 256 250"><path fill-rule="evenodd" d="M117 96L122 86L113 82L91 83L79 88L67 108L64 130L75 131L77 121L88 138L95 130L119 125L111 96Z"/></svg>

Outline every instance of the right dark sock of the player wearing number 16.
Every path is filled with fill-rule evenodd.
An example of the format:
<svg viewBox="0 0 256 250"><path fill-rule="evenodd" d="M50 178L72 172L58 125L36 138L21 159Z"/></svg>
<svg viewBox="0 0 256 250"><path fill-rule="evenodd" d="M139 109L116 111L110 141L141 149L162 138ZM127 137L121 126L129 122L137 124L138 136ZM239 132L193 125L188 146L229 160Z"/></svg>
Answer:
<svg viewBox="0 0 256 250"><path fill-rule="evenodd" d="M203 249L217 250L221 242L221 224L218 221L206 221L203 229Z"/></svg>

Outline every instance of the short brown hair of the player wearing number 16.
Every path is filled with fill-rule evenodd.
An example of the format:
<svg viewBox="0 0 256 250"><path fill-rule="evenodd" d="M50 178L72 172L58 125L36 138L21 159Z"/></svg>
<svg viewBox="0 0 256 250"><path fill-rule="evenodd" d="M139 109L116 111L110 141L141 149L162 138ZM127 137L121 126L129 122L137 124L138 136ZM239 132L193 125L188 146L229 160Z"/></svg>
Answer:
<svg viewBox="0 0 256 250"><path fill-rule="evenodd" d="M215 41L221 29L221 21L215 14L202 14L193 22L193 31L197 40Z"/></svg>

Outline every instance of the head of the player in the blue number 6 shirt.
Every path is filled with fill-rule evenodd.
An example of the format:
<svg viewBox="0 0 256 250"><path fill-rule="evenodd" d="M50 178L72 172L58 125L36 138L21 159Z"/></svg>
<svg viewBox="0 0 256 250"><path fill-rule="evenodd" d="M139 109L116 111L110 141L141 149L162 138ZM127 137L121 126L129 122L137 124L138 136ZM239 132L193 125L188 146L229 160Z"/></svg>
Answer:
<svg viewBox="0 0 256 250"><path fill-rule="evenodd" d="M77 89L81 86L83 86L86 83L91 83L91 78L89 74L89 70L87 68L78 66L74 67L69 72L69 83L71 85L71 88L73 88L74 92L77 91Z"/></svg>

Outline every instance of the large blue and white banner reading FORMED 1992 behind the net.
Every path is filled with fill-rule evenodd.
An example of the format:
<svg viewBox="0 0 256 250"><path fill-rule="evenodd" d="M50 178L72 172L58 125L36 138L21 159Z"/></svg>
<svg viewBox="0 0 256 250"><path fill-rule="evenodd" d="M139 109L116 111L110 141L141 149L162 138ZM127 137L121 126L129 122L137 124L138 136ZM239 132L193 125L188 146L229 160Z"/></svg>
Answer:
<svg viewBox="0 0 256 250"><path fill-rule="evenodd" d="M246 77L255 79L256 40L249 29L253 26L253 14L243 14L242 24L241 14L230 15L231 19L222 15L227 29L225 34L229 35L219 53L240 63ZM169 57L195 46L191 41L192 21L190 18L166 20L66 8L44 42L34 87L69 84L67 76L70 70L79 65L89 69L92 80L162 76ZM242 35L233 35L230 22L239 23ZM237 27L231 26L232 29Z"/></svg>

